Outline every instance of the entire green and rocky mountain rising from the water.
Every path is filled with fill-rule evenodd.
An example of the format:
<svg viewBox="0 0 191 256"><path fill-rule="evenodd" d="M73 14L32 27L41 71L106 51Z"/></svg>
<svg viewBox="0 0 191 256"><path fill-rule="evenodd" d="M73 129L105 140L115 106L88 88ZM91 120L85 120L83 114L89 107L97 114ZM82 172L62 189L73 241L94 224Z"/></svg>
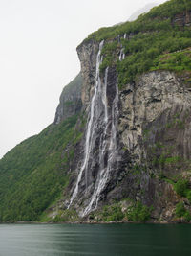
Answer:
<svg viewBox="0 0 191 256"><path fill-rule="evenodd" d="M78 47L54 123L0 161L1 221L191 221L191 3Z"/></svg>

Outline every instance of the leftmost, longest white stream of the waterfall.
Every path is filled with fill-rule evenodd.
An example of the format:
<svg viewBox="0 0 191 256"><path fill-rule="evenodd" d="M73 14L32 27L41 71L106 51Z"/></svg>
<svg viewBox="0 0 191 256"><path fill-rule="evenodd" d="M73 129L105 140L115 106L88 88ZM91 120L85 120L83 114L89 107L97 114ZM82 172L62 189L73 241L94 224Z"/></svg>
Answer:
<svg viewBox="0 0 191 256"><path fill-rule="evenodd" d="M87 128L87 133L86 133L84 160L83 160L83 164L80 168L79 175L77 176L77 181L76 181L76 184L75 184L74 192L73 192L73 195L72 195L72 198L70 200L68 208L70 208L71 204L74 201L74 198L76 198L76 196L77 196L78 188L79 188L79 182L81 181L83 172L84 171L85 171L85 173L87 172L87 164L88 164L90 150L91 150L91 146L92 146L92 136L93 136L93 131L94 131L93 119L94 119L94 116L95 116L95 105L96 105L96 98L97 98L97 94L98 94L97 92L100 93L100 83L101 83L101 81L100 81L100 77L99 77L99 66L100 66L100 63L102 61L102 59L101 59L101 50L103 48L103 43L104 43L104 41L100 42L99 51L98 51L98 54L97 54L97 57L96 57L96 87L95 87L95 93L94 93L92 101L91 101L90 119L89 119L89 122L88 122L88 128ZM106 103L105 99L104 99L104 101Z"/></svg>

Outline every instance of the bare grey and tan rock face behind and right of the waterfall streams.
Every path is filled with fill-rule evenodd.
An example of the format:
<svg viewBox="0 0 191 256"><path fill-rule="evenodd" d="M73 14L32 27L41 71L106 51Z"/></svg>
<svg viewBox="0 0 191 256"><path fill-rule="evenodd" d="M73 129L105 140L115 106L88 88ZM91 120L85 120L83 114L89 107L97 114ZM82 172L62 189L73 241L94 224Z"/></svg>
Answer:
<svg viewBox="0 0 191 256"><path fill-rule="evenodd" d="M96 43L78 48L84 81L82 102L89 121L81 142L84 158L70 184L74 198L68 207L73 206L80 216L86 216L116 199L131 198L153 205L154 219L170 221L179 197L173 186L159 175L176 180L176 175L182 175L190 167L191 91L174 73L155 71L140 76L136 83L127 84L118 93L115 67L97 77L97 52ZM96 85L99 79L100 84ZM105 91L106 106L102 105L102 96L97 96L92 117L95 123L91 125L92 137L88 139L88 160L85 160L96 86L100 86L101 95ZM117 153L113 155L112 151ZM85 167L84 161L87 161Z"/></svg>

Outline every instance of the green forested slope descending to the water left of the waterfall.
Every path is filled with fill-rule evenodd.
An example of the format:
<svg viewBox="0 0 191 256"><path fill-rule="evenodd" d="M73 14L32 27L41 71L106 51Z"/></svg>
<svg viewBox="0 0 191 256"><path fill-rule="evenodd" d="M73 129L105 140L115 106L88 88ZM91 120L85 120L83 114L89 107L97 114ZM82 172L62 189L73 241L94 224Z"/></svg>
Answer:
<svg viewBox="0 0 191 256"><path fill-rule="evenodd" d="M39 221L68 184L77 116L45 128L0 161L0 221ZM64 151L67 149L67 151Z"/></svg>

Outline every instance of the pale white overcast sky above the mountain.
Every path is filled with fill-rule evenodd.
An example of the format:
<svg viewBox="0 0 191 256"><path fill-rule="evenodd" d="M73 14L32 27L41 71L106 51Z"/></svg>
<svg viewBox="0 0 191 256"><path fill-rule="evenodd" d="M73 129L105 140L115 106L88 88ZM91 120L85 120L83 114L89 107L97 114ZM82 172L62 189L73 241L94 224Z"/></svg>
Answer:
<svg viewBox="0 0 191 256"><path fill-rule="evenodd" d="M64 85L80 71L77 45L152 2L0 0L0 158L53 123Z"/></svg>

